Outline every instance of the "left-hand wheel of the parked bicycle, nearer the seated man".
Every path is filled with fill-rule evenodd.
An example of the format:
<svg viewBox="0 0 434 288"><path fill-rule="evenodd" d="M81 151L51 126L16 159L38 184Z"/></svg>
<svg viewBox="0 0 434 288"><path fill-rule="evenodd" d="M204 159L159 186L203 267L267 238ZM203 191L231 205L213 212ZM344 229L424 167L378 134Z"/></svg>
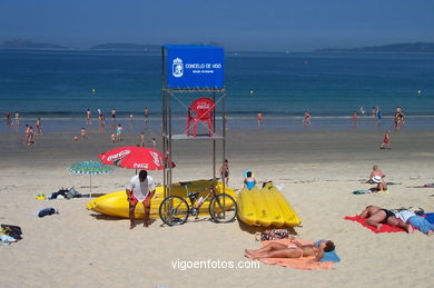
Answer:
<svg viewBox="0 0 434 288"><path fill-rule="evenodd" d="M158 210L161 220L168 226L183 225L187 221L190 208L179 196L169 196L160 203Z"/></svg>

